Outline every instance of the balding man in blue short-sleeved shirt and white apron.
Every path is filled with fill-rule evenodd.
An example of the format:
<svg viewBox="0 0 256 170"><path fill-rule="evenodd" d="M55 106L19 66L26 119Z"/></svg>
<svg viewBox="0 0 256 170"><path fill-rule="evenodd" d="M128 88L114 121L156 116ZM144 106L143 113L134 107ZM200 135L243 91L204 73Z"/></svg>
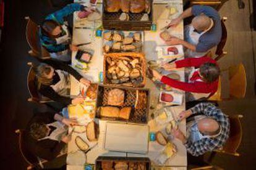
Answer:
<svg viewBox="0 0 256 170"><path fill-rule="evenodd" d="M192 6L169 23L177 26L184 18L194 15L190 25L184 28L184 40L173 37L168 45L181 44L187 48L187 57L202 57L221 41L221 18L218 11L210 6Z"/></svg>

